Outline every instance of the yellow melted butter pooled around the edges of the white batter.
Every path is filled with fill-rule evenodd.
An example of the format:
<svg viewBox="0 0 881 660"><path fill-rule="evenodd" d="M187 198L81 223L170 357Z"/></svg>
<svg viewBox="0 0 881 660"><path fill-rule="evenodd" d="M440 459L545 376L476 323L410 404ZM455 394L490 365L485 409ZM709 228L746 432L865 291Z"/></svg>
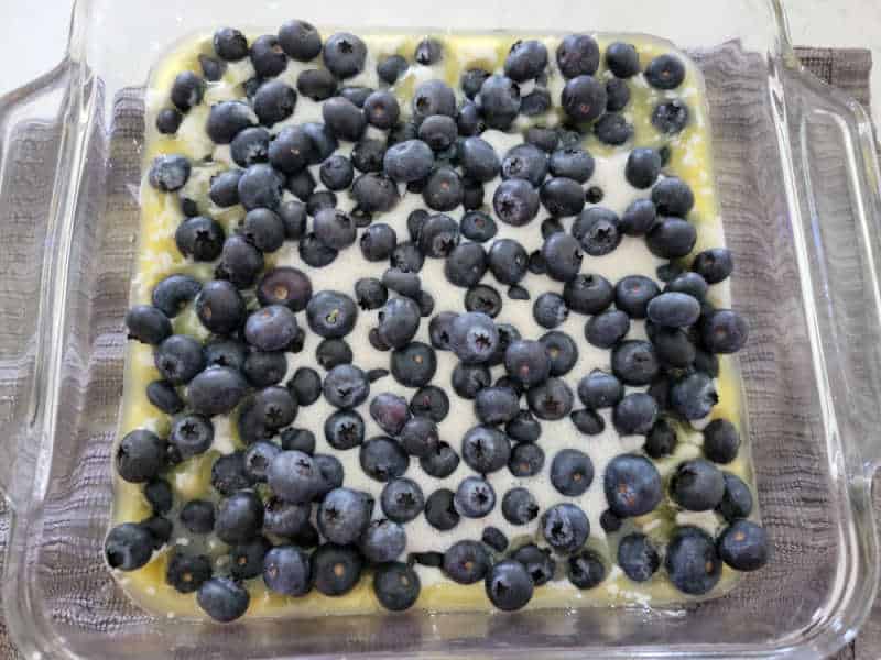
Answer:
<svg viewBox="0 0 881 660"><path fill-rule="evenodd" d="M423 35L415 34L400 35L391 33L362 34L361 36L369 51L365 72L367 76L370 74L367 68L373 67L376 59L382 56L400 54L410 61L417 42L423 37ZM447 84L457 89L459 75L467 68L479 66L487 70L499 69L503 65L510 44L514 41L513 36L503 35L447 34L433 36L443 43L445 57L435 67L411 66L409 75L394 87L394 92L399 97L402 108L409 107L415 86L424 79L443 77ZM518 37L526 38L530 35L518 35ZM541 35L532 36L532 38L539 38L547 46L553 65L554 53L559 38ZM596 35L596 38L603 52L607 44L616 41L616 37L611 35ZM670 44L651 37L629 35L624 37L624 41L637 46L640 53L640 65L643 69L653 57L671 52ZM148 91L146 142L142 168L144 177L149 170L150 163L161 154L183 154L192 160L199 160L206 155L203 153L206 148L205 144L200 143L198 139L193 139L198 133L198 130L204 127L207 118L208 106L206 102L187 113L184 125L182 125L178 134L174 136L157 133L153 118L160 109L168 105L168 90L175 76L186 69L199 72L198 55L211 54L211 52L210 36L198 36L176 47L154 68ZM709 152L709 123L703 79L694 63L681 53L678 55L686 63L687 73L683 85L676 90L661 91L651 88L642 76L635 76L628 80L631 89L631 101L624 109L623 114L634 128L634 138L628 145L661 146L670 144L672 146L672 157L664 169L682 177L692 186L695 195L695 207L688 219L698 229L698 240L695 246L695 252L698 252L707 248L724 245L725 240L714 189ZM221 81L222 85L209 84L206 99L216 101L221 98L243 97L241 82L250 77L247 63L248 61L246 59L244 64L228 66ZM320 63L315 61L306 66L320 66ZM600 70L597 75L602 77L605 73L605 64L601 62ZM563 85L558 75L556 78L548 84L548 90L555 107L558 105L559 91ZM347 84L359 84L359 80L348 80ZM651 124L651 110L659 100L665 98L684 99L690 113L688 125L673 138L659 134ZM308 99L300 96L297 111L300 111L301 103L304 101L308 101ZM297 112L294 114L295 120L296 117ZM555 125L556 122L557 118L548 114L542 118L532 118L530 123ZM524 122L524 118L520 118L518 125L525 128L529 123ZM273 130L273 132L275 131ZM191 139L182 138L182 133L185 133ZM584 146L595 155L610 155L621 148L631 148L628 145L624 147L608 146L598 142L592 134L584 142ZM215 160L217 161L218 158ZM220 165L215 170L224 168ZM210 170L211 168L208 169ZM194 168L195 172L196 169ZM205 206L209 205L206 204ZM163 195L144 184L141 186L141 207L140 249L138 252L137 275L132 283L132 305L149 302L153 286L172 273L187 273L203 280L210 278L213 271L210 264L196 264L182 256L176 249L174 231L183 219L176 196ZM202 207L203 205L200 204ZM239 206L224 210L214 208L211 209L211 216L229 232L235 228L238 220L244 216L244 210ZM267 266L270 267L272 262L272 255L268 255ZM718 304L730 305L727 283L713 287L710 293L717 298L716 301ZM192 308L174 319L174 329L175 332L193 334L199 339L207 337ZM153 365L151 346L130 342L126 362L124 400L119 437L138 428L148 428L161 435L167 433L170 425L167 416L154 408L148 402L145 394L146 384L157 377L159 373ZM732 421L738 427L738 430L744 431L746 429L741 425L740 378L735 362L728 356L721 356L720 359L720 375L717 382L717 389L720 400L714 408L710 419L726 418ZM228 424L233 442L240 447L241 443L236 431L235 419ZM681 461L695 458L700 453L699 442L701 440L698 431L678 429L677 435L679 442L675 454L655 461L659 471L665 477ZM741 435L746 437L744 432ZM210 471L217 455L219 453L211 450L185 461L170 472L168 482L172 485L175 498L181 498L181 501L196 497L216 498L211 493ZM751 483L748 448L741 448L739 457L732 463L725 465L724 469L737 474L747 483ZM596 479L601 479L601 475L597 475ZM115 483L115 525L142 520L151 515L150 506L143 496L140 485L127 483L119 477L116 479ZM661 540L672 529L675 516L676 512L670 502L665 501L652 514L626 521L624 529L638 529ZM608 547L603 548L605 541L597 543L597 539L595 539L597 531L602 534L601 530L591 530L588 547L594 547L608 561L609 549ZM187 539L178 540L173 538L171 543L157 551L145 566L129 573L116 572L117 579L127 593L139 605L150 612L175 617L206 618L205 614L196 605L195 594L181 594L165 583L167 560L175 542L184 546L188 541ZM220 541L215 541L214 548L209 546L208 552L215 559L221 558L226 552L226 546ZM609 563L608 566L609 575L606 581L600 586L589 591L579 591L565 579L552 581L544 586L536 587L527 608L633 603L664 605L695 600L675 590L666 579L663 570L655 573L649 582L638 584L624 576L620 569L612 563ZM439 569L428 570L437 571ZM703 598L715 597L730 590L737 578L737 572L724 566L719 584ZM356 588L344 596L328 597L313 591L306 596L294 598L270 593L259 578L249 580L246 581L246 584L251 594L251 603L246 616L295 618L374 613L381 610L381 606L373 594L371 582L370 575L366 575ZM482 582L472 585L460 585L449 581L424 585L414 607L434 612L492 609L483 592Z"/></svg>

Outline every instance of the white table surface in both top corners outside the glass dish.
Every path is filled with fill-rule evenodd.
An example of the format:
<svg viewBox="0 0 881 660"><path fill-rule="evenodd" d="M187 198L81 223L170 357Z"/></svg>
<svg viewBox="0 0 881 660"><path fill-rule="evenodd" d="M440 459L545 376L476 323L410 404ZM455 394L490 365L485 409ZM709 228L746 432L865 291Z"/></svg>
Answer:
<svg viewBox="0 0 881 660"><path fill-rule="evenodd" d="M872 97L878 99L873 114L875 124L881 125L881 2L784 2L796 44L872 50L875 62ZM3 26L3 37L0 38L0 95L48 70L61 59L67 44L70 4L72 0L0 0L0 25Z"/></svg>

